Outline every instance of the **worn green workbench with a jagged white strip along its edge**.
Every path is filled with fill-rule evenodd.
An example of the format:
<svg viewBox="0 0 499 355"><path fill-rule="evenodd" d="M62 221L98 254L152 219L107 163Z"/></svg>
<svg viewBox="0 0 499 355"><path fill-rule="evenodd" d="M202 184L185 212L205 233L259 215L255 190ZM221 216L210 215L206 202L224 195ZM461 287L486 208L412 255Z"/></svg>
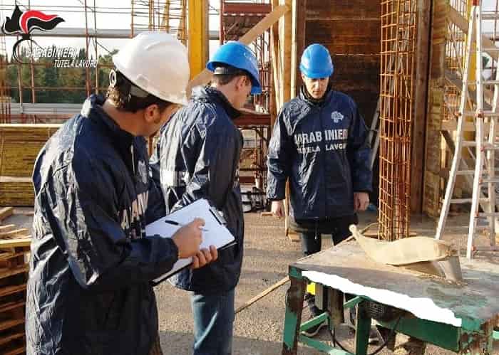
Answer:
<svg viewBox="0 0 499 355"><path fill-rule="evenodd" d="M355 240L289 265L291 285L287 291L283 334L283 355L297 354L297 342L326 354L351 354L300 334L304 327L327 320L329 329L343 322L343 292L362 302L391 306L401 314L377 324L395 329L459 354L492 354L499 314L499 260L461 258L462 282L414 272L370 260ZM318 319L302 322L307 282L327 290L328 312ZM348 303L348 302L347 302ZM367 354L371 318L356 313L356 355ZM301 329L300 329L301 328Z"/></svg>

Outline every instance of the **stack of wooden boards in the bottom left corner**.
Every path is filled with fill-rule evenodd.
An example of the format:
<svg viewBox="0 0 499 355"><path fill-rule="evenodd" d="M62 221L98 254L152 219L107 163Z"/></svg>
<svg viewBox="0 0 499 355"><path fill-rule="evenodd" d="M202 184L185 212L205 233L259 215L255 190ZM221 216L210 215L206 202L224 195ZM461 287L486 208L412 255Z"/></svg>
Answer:
<svg viewBox="0 0 499 355"><path fill-rule="evenodd" d="M29 272L29 231L2 224L14 208L0 208L0 354L25 354L24 318Z"/></svg>

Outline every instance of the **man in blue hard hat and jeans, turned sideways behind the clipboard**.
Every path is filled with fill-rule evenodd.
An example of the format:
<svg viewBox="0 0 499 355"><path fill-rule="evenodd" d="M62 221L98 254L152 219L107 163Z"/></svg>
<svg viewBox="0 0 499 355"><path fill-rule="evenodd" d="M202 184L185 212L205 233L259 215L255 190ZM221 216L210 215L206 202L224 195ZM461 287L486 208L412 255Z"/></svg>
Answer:
<svg viewBox="0 0 499 355"><path fill-rule="evenodd" d="M261 88L257 59L240 42L221 46L207 68L212 82L194 88L189 104L163 127L151 165L167 212L206 198L235 236L236 245L220 250L215 263L172 277L175 286L192 292L194 354L227 355L245 231L237 175L243 140L233 121L248 95Z"/></svg>

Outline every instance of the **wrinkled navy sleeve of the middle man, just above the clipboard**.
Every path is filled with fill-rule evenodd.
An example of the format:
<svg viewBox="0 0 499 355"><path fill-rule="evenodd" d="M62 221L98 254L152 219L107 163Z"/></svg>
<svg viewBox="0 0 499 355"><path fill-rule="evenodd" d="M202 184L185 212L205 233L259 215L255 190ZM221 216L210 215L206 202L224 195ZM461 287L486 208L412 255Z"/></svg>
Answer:
<svg viewBox="0 0 499 355"><path fill-rule="evenodd" d="M211 124L190 129L182 145L182 155L195 162L182 198L174 210L199 198L206 198L212 206L222 210L234 185L242 147L237 131L230 132L222 124Z"/></svg>

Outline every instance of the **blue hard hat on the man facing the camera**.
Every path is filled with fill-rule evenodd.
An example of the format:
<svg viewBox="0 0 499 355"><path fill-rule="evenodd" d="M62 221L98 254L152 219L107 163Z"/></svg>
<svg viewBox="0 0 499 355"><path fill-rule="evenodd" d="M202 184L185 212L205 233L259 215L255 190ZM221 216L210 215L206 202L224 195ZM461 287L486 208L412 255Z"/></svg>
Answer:
<svg viewBox="0 0 499 355"><path fill-rule="evenodd" d="M329 78L334 72L329 51L319 43L311 44L305 48L299 69L307 78L311 79Z"/></svg>

